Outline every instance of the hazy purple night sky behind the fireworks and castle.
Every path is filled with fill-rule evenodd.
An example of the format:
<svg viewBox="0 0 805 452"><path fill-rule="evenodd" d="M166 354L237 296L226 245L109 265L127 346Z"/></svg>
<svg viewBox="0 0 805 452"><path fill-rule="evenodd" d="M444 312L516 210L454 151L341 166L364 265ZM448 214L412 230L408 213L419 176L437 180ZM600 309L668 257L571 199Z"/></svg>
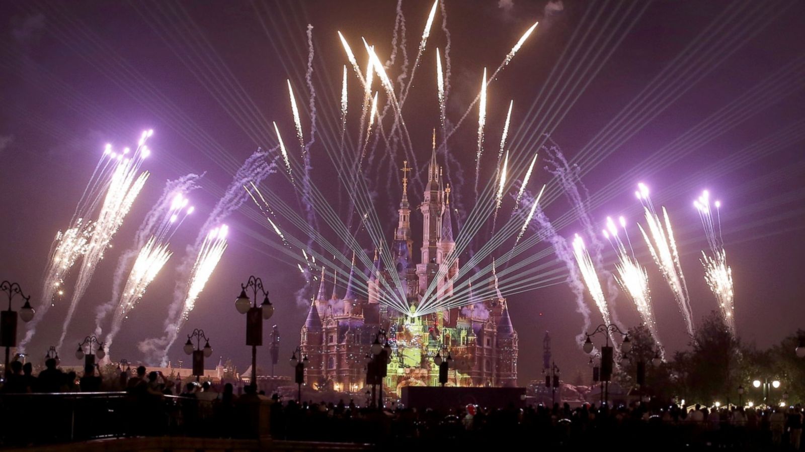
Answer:
<svg viewBox="0 0 805 452"><path fill-rule="evenodd" d="M409 64L413 64L430 6L428 0L403 2ZM699 261L700 250L707 245L691 205L706 188L723 204L721 222L733 267L741 340L768 347L803 327L805 281L798 263L805 253L802 2L565 1L547 5L524 0L446 0L444 6L450 35L447 109L452 124L477 95L483 68L490 72L497 68L523 31L540 21L511 64L489 85L481 187L494 175L494 154L513 99L508 141L512 153L520 155L514 177L522 177L523 161L530 161L547 133L568 160L579 165L596 228L606 216L629 216L631 223L640 220L634 187L644 182L652 188L654 202L667 207L675 226L696 323L716 310ZM105 143L130 146L142 129L155 130L154 154L143 166L151 171L151 179L81 300L60 353L64 364L74 360L72 344L93 332L96 306L109 301L119 250L130 246L142 216L167 179L205 173L202 189L191 195L197 213L171 240L175 256L124 324L115 340L114 360L142 360L136 343L161 333L184 247L196 237L234 169L258 146L275 146L271 121L282 129L289 150L298 152L285 80L294 84L309 136L309 93L304 83L308 23L313 26L319 121L330 121L327 127L321 125L322 135L311 148L312 179L346 221L348 198L323 147L337 142L332 124L340 114L342 65L348 64L336 31L349 39L365 68L361 36L375 44L386 61L394 18L395 2L0 3L0 208L4 213L0 278L19 281L35 307L42 302L42 273L53 237L67 226ZM443 19L437 12L403 109L419 162L412 178L424 177L431 129L439 127L435 49L444 53L448 44ZM389 69L392 79L399 74L402 51L397 58ZM349 70L348 129L350 136L357 137L361 89ZM385 105L382 92L380 98ZM243 105L251 107L243 109ZM386 130L390 119L391 114L384 122ZM448 141L448 152L454 157L449 179L464 218L473 208L476 128L477 108ZM351 141L357 148L354 138ZM383 145L374 152L368 178L390 240L401 193L396 169L403 157L399 154L394 161ZM548 184L543 203L547 216L555 220L563 236L581 232L572 206L544 169L542 157L537 166L529 188L535 191ZM265 186L298 205L294 204L295 189L281 175L270 175ZM412 187L410 193L412 204L421 202L420 192ZM505 204L505 218L510 209ZM180 331L179 343L170 351L174 363L189 361L181 351L181 338L200 327L214 348L214 362L208 368L223 356L246 369L250 360L246 318L234 309L233 300L240 283L254 274L263 278L276 306L266 330L270 324L279 325L283 338L279 369L290 374L285 362L299 340L306 314L306 307L296 300L305 281L294 261L264 244L278 240L270 225L247 217L247 211L256 212L251 202L226 220L229 249ZM418 213L412 216L415 254L421 240L420 219ZM489 228L481 228L473 242L475 249L488 234ZM365 249L372 249L365 232L358 233L358 240ZM659 335L670 351L681 350L688 340L682 318L644 244L638 242L636 251L649 272ZM510 246L511 241L495 255L505 254ZM548 246L547 242L536 244L533 253ZM605 268L613 270L613 253L604 256ZM545 271L556 270L544 277L546 287L509 298L519 332L520 384L539 376L545 331L551 331L554 358L565 371L564 378L576 382L578 372L584 372L588 380L587 356L573 343L582 327L573 296L561 278L547 281L564 275L563 265L553 260L551 255L535 264L546 264ZM344 289L340 291L343 294ZM310 288L303 292L309 294ZM601 316L592 300L587 302L595 327ZM55 343L67 304L67 300L60 302L43 318L27 350L32 356L44 355L47 346ZM610 300L610 306L625 327L639 322L623 294ZM268 348L259 349L258 363L269 360Z"/></svg>

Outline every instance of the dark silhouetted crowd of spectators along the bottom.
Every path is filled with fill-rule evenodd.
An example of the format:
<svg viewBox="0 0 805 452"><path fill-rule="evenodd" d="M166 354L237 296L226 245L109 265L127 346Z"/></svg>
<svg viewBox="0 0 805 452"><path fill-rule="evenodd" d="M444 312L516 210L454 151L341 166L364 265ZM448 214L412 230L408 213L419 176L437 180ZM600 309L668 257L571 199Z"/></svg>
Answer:
<svg viewBox="0 0 805 452"><path fill-rule="evenodd" d="M361 408L355 401L314 403L266 397L251 386L236 395L232 384L177 388L174 380L140 366L131 376L101 380L97 367L77 378L47 360L39 376L31 364L14 361L0 388L0 445L64 442L100 436L187 435L254 438L255 406L268 405L265 417L272 438L291 441L362 442L390 450L428 444L481 446L537 444L612 447L644 444L670 449L730 447L738 450L802 450L801 405L779 408L702 407L700 405L584 404L487 409L476 405L452 410L387 406ZM115 392L99 392L101 388ZM55 394L63 392L62 394ZM178 392L178 393L177 393ZM30 419L51 425L31 434ZM71 421L72 420L72 421ZM75 421L77 420L77 421ZM69 431L67 430L69 428Z"/></svg>

